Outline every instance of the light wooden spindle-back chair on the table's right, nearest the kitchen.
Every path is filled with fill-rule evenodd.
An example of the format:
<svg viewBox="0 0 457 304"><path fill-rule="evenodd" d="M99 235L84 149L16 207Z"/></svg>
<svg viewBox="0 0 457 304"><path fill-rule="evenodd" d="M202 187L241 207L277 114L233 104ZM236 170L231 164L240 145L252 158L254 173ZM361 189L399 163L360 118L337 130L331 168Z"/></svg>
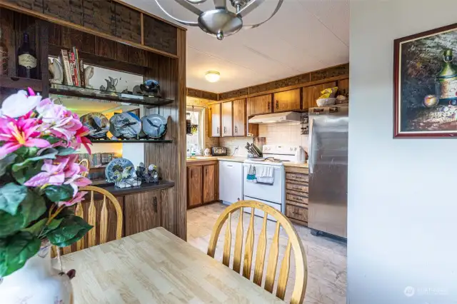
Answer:
<svg viewBox="0 0 457 304"><path fill-rule="evenodd" d="M303 303L308 275L305 250L303 249L303 244L301 243L301 240L298 238L296 230L293 227L291 221L289 221L288 218L286 218L286 216L284 216L281 212L277 211L275 208L268 206L264 203L260 203L258 201L238 201L236 203L233 203L231 206L227 207L221 214L221 216L219 216L219 218L216 221L216 224L214 225L213 231L211 233L211 239L209 240L208 255L214 258L219 233L221 232L221 228L222 226L224 226L224 223L227 222L222 263L224 263L224 265L226 265L227 267L230 267L231 214L234 211L239 210L240 216L238 219L238 226L236 228L235 249L233 253L233 270L235 270L237 273L240 273L241 252L243 250L243 208L252 208L251 218L249 221L249 226L246 234L246 243L244 247L243 276L248 280L250 280L251 278L251 265L254 246L254 210L258 209L264 212L264 217L263 226L258 237L253 283L256 283L259 286L262 285L263 265L265 264L265 254L267 245L266 215L268 214L270 216L273 216L273 218L275 218L277 222L270 247L270 253L268 255L268 263L266 265L266 278L264 288L269 293L273 293L273 285L275 281L276 268L278 263L279 228L282 226L288 235L288 243L286 246L286 251L284 253L283 260L281 262L281 269L279 270L276 296L283 300L284 295L286 294L286 285L288 280L288 273L290 270L291 248L293 248L293 255L295 257L296 277L293 286L291 304Z"/></svg>

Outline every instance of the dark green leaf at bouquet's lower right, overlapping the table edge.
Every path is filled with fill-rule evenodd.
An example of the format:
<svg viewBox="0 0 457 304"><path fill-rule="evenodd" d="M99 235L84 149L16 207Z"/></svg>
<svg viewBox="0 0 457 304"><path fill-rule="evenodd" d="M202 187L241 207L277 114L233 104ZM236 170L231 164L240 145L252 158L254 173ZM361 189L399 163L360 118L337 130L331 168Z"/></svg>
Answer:
<svg viewBox="0 0 457 304"><path fill-rule="evenodd" d="M67 216L58 228L46 233L46 237L51 244L65 247L80 240L92 227L79 216Z"/></svg>

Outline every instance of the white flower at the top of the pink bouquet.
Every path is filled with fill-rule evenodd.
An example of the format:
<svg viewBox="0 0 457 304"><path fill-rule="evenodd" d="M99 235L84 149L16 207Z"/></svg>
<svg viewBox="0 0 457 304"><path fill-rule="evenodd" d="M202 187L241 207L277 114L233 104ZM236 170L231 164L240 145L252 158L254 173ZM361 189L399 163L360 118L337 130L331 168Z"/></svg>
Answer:
<svg viewBox="0 0 457 304"><path fill-rule="evenodd" d="M6 98L0 108L0 116L18 118L26 115L41 101L41 96L27 96L26 91L19 91Z"/></svg>

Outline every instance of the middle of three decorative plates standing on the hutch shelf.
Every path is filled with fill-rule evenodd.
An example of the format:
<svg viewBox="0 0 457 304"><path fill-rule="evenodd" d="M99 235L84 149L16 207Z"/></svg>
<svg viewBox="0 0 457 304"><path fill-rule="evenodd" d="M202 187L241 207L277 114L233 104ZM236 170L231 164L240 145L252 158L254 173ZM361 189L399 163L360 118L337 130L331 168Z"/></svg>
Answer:
<svg viewBox="0 0 457 304"><path fill-rule="evenodd" d="M114 114L109 119L109 131L117 138L136 138L141 131L141 121L132 112Z"/></svg>

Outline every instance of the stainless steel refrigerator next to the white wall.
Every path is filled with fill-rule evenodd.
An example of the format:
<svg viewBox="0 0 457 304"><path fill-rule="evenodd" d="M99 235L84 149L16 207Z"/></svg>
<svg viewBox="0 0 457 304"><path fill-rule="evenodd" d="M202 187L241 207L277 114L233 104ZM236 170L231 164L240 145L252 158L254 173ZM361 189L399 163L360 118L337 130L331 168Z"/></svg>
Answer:
<svg viewBox="0 0 457 304"><path fill-rule="evenodd" d="M348 106L308 111L308 227L347 238Z"/></svg>

